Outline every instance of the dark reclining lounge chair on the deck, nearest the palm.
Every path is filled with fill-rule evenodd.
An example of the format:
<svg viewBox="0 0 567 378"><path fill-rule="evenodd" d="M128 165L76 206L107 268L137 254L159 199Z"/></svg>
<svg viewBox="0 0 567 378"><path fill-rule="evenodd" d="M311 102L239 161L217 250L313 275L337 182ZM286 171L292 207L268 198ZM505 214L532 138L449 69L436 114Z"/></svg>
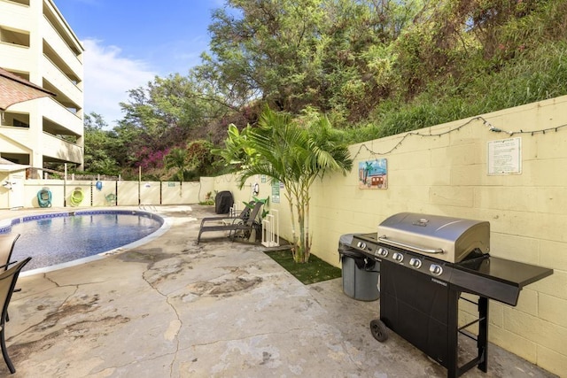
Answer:
<svg viewBox="0 0 567 378"><path fill-rule="evenodd" d="M228 231L229 237L234 241L237 231L252 231L258 229L260 224L256 221L260 209L264 204L261 201L254 203L252 210L249 207L237 217L209 217L201 220L201 227L198 230L197 243L201 241L201 234L208 231ZM210 223L215 221L214 225ZM207 225L207 223L209 223Z"/></svg>

